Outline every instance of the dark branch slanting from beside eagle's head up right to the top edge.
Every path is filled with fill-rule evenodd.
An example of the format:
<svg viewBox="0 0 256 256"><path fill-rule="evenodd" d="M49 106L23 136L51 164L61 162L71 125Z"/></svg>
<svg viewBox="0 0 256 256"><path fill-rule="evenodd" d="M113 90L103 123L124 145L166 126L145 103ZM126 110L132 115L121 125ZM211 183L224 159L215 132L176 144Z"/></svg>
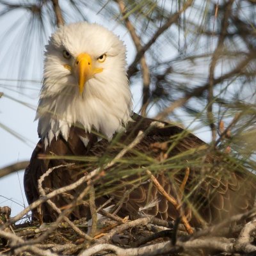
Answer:
<svg viewBox="0 0 256 256"><path fill-rule="evenodd" d="M179 19L180 14L182 12L185 12L189 8L189 6L191 6L192 3L193 3L193 0L186 1L185 4L182 6L182 8L180 8L180 10L178 12L171 15L169 17L169 19L166 21L166 23L163 24L163 26L161 26L156 31L156 33L152 36L152 38L148 41L148 43L145 44L140 49L140 51L137 52L137 55L136 55L134 61L131 63L131 65L128 68L128 71L127 71L128 77L131 77L134 74L134 72L136 72L136 65L137 65L138 61L140 61L143 54L145 54L145 52L151 47L152 44L154 44L154 42L156 42L157 38L160 35L162 35L163 32L166 31L166 29L168 29L174 22L176 22Z"/></svg>

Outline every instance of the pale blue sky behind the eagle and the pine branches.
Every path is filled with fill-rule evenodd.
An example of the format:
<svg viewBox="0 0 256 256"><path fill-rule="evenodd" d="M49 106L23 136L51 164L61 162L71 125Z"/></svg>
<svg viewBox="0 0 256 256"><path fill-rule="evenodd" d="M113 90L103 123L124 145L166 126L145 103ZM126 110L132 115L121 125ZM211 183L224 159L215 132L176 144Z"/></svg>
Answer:
<svg viewBox="0 0 256 256"><path fill-rule="evenodd" d="M100 13L92 15L86 9L83 12L90 22L102 24L120 36L120 39L127 45L127 62L128 64L131 63L135 55L135 49L129 33L114 19L106 22ZM10 28L15 23L15 20L20 18L26 21L28 12L17 11L10 15L5 15L4 18L0 19L0 27ZM3 31L0 32L0 38L4 34ZM12 47L19 46L19 41L18 45L15 45L13 40L12 35L7 33L4 35L4 42L0 43L0 92L4 93L4 96L0 99L0 168L30 159L33 148L35 148L38 141L37 122L34 122L34 118L42 81L40 61L42 61L43 56L41 60L38 59L38 64L36 64L35 60L35 64L27 63L26 60L22 60L22 56L19 56L19 54L9 60L8 56L11 56L14 51ZM42 55L42 51L38 51L33 47L29 51L31 51L31 54ZM29 74L29 72L27 74L33 81L25 81L22 87L20 87L20 82L17 81L17 77L19 77L18 63L22 63L25 71L33 70L33 74ZM138 112L140 109L141 85L134 84L131 90L134 111ZM154 116L154 108L151 110L151 115ZM19 132L19 134L13 136L10 133L12 131ZM200 132L199 136L205 138L205 132ZM23 175L24 172L16 172L0 179L0 206L10 206L12 208L12 216L15 216L24 208L24 205L27 205L23 189Z"/></svg>

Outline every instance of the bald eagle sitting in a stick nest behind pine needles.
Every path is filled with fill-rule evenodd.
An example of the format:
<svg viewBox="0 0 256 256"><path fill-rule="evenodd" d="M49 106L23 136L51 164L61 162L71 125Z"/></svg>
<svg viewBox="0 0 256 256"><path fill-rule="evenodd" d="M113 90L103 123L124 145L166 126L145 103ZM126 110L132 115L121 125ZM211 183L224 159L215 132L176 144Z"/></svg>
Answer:
<svg viewBox="0 0 256 256"><path fill-rule="evenodd" d="M188 131L133 113L125 52L118 36L98 24L61 26L51 36L36 113L40 141L24 175L28 203L39 198L38 179L49 168L79 157L75 166L58 168L43 182L47 191L72 184L104 166L143 131L143 139L93 181L97 207L112 198L113 205L122 202L119 216L175 220L179 211L145 174L151 170L174 198L186 180L181 200L195 227L248 211L255 198L250 172L227 155L208 154L207 145ZM63 209L86 186L81 184L52 201ZM87 199L84 196L84 203L74 207L70 220L90 218ZM46 203L40 211L44 221L58 217Z"/></svg>

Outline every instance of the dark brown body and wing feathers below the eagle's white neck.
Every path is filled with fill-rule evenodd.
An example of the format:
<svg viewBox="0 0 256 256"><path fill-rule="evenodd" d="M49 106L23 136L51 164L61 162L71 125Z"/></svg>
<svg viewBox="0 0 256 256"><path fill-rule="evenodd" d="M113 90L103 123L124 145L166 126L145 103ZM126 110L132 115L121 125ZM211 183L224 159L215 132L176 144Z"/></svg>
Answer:
<svg viewBox="0 0 256 256"><path fill-rule="evenodd" d="M75 167L54 170L44 182L44 188L52 190L71 184L84 175L84 171L90 172L100 164L106 163L108 159L115 157L125 145L131 143L138 131L147 131L147 136L136 145L134 150L127 152L125 157L140 159L141 161L141 157L138 156L142 154L146 160L147 157L150 157L155 159L156 163L162 161L161 163L164 163L163 170L159 170L156 177L166 192L172 196L176 196L177 191L179 192L185 170L182 167L178 168L178 166L175 168L166 168L166 166L168 164L175 166L173 163L179 165L180 159L183 163L188 163L189 177L183 200L191 225L201 225L202 220L206 223L214 223L232 214L248 211L252 208L256 190L252 173L239 170L236 164L228 163L228 160L221 157L221 154L202 157L207 148L205 143L180 127L167 123L161 123L160 126L150 126L155 120L142 118L138 115L134 115L133 118L134 122L129 124L127 131L121 135L117 134L118 140L114 138L111 143L104 139L98 141L95 134L87 134L78 127L70 129L68 141L59 136L58 140L53 140L46 150L43 141L40 140L24 175L24 186L29 204L38 198L37 180L39 177L52 166L68 162L63 159L42 159L40 156L55 154L57 156L98 157L92 163L85 161L77 163ZM83 144L81 137L88 138L88 145ZM175 144L173 144L173 141L175 141ZM184 154L184 152L188 152L188 154ZM172 158L180 153L183 155L179 161ZM204 163L202 159L204 159ZM139 160L138 163L129 163L129 161L127 163L117 163L116 166L107 170L108 175L102 177L95 185L96 191L101 195L97 198L96 204L102 204L109 196L113 196L115 198L114 202L117 204L125 195L125 191L136 186L136 189L131 189L132 191L127 195L127 198L123 198L124 204L120 209L120 216L129 214L131 218L136 218L139 209L155 200L155 205L149 208L146 207L140 214L157 216L164 220L177 218L179 212L172 204L168 203L166 198L157 191L152 182L141 172L143 170L142 166L150 166L150 163L146 160L141 161L141 163ZM81 168L81 164L83 164L83 168ZM132 170L135 168L140 170L140 173L133 172L132 174ZM131 175L127 175L127 170L130 170ZM116 179L116 177L119 179ZM84 188L86 188L86 184L82 184L67 195L56 196L53 201L58 207L65 207ZM189 205L193 205L193 207L191 208ZM42 214L44 221L53 221L58 216L47 204L42 205ZM198 216L201 216L201 218L198 218ZM81 217L90 218L90 211L86 204L77 206L70 214L70 219Z"/></svg>

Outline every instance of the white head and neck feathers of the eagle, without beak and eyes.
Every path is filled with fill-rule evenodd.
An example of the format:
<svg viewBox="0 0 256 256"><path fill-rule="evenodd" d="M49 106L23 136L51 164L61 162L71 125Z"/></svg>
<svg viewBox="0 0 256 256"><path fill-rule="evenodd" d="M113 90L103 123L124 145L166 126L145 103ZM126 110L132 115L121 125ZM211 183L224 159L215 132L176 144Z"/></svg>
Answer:
<svg viewBox="0 0 256 256"><path fill-rule="evenodd" d="M63 51L68 51L67 60ZM86 52L96 68L103 68L86 81L83 93L74 70L76 57ZM106 53L102 63L97 58ZM109 139L131 119L132 99L125 72L125 46L111 31L97 24L79 22L61 26L46 46L44 82L36 113L38 134L45 147L62 134L68 140L71 125L83 125Z"/></svg>

